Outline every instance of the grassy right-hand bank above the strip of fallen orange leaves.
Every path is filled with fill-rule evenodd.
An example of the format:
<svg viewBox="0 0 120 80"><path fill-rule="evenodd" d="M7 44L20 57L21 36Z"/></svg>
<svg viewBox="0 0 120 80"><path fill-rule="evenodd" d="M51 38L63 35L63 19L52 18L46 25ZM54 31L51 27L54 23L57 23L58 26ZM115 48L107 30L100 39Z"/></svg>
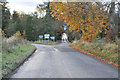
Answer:
<svg viewBox="0 0 120 80"><path fill-rule="evenodd" d="M79 48L101 57L102 59L109 60L116 64L118 63L118 54L120 53L120 49L115 43L90 43L77 41L76 43L72 43L71 46L78 46Z"/></svg>

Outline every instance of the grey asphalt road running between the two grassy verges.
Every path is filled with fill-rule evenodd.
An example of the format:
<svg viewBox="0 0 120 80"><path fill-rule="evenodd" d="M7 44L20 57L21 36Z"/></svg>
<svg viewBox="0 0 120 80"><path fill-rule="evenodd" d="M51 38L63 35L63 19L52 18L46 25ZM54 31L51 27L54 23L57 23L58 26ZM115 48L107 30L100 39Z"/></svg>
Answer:
<svg viewBox="0 0 120 80"><path fill-rule="evenodd" d="M11 78L117 78L118 69L68 46L40 45Z"/></svg>

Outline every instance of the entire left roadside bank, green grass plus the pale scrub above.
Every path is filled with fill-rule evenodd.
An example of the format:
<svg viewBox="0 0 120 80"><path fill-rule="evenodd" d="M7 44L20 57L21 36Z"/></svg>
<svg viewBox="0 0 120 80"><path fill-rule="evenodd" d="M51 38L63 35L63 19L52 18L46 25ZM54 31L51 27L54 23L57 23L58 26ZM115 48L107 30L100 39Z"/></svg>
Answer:
<svg viewBox="0 0 120 80"><path fill-rule="evenodd" d="M20 36L19 31L10 38L2 38L2 71L0 74L1 72L3 76L9 74L32 54L35 47L29 43Z"/></svg>

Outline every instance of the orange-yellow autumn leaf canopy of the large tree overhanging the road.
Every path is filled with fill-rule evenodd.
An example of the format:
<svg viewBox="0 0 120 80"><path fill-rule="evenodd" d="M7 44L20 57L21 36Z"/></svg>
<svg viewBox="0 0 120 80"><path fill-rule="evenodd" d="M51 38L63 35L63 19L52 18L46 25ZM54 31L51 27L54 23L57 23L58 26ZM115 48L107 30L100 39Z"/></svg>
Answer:
<svg viewBox="0 0 120 80"><path fill-rule="evenodd" d="M71 32L81 31L83 40L93 41L103 29L104 33L109 29L108 14L92 2L51 2L49 7L52 17L64 21Z"/></svg>

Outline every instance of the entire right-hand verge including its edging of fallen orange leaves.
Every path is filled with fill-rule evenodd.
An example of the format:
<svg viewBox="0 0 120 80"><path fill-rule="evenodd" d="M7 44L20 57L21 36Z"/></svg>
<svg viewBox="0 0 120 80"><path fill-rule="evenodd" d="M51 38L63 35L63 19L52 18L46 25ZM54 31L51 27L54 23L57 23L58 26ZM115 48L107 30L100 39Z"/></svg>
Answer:
<svg viewBox="0 0 120 80"><path fill-rule="evenodd" d="M79 50L82 53L93 56L108 64L118 66L118 45L114 43L90 43L78 41L70 45L70 47Z"/></svg>

